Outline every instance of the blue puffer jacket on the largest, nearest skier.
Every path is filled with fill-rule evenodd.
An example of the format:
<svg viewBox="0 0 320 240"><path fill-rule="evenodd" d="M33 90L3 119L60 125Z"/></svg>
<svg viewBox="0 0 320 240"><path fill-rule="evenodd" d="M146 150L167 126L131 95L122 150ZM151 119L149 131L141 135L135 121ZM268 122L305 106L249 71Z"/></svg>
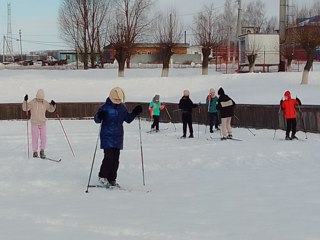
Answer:
<svg viewBox="0 0 320 240"><path fill-rule="evenodd" d="M123 149L123 122L130 123L136 117L129 113L123 104L113 104L107 98L94 116L96 123L101 123L100 147L101 149Z"/></svg>

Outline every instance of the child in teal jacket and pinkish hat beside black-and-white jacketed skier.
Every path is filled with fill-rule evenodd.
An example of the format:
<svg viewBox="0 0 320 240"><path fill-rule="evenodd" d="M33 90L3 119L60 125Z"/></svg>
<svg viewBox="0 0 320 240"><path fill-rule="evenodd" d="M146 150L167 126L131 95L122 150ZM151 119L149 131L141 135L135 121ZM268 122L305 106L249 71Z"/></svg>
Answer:
<svg viewBox="0 0 320 240"><path fill-rule="evenodd" d="M218 97L215 94L215 90L210 88L209 95L206 99L206 105L208 109L208 120L209 120L209 127L210 132L213 133L213 125L215 126L216 130L219 130L219 119L218 119L218 112L217 112L217 104L218 104Z"/></svg>

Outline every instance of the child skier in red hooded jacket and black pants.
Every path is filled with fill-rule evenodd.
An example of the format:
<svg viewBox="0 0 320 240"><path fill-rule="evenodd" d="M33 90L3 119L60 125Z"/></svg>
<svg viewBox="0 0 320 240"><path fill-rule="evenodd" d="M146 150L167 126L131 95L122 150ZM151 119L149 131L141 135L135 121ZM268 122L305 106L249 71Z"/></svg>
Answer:
<svg viewBox="0 0 320 240"><path fill-rule="evenodd" d="M301 101L299 98L293 99L291 98L290 91L286 91L284 93L284 100L281 99L280 106L284 111L284 117L287 122L286 128L286 140L298 139L296 137L296 128L297 128L297 117L296 117L296 106L301 105ZM291 137L290 137L291 131Z"/></svg>

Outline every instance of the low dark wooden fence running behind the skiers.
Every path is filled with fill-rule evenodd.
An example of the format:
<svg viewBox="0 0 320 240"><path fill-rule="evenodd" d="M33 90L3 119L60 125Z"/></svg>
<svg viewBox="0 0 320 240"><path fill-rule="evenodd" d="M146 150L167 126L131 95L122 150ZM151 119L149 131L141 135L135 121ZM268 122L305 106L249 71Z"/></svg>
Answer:
<svg viewBox="0 0 320 240"><path fill-rule="evenodd" d="M92 118L102 102L86 103L57 103L54 113L47 112L48 118L86 119ZM131 111L137 104L143 108L142 118L150 119L148 103L128 102L126 107ZM0 104L0 120L23 120L26 113L22 111L22 103ZM168 111L161 111L161 122L181 122L181 111L178 104L166 104ZM169 114L168 114L169 113ZM202 104L199 108L193 109L193 122L207 124L207 107ZM279 112L279 105L251 105L238 104L235 108L235 116L232 125L235 127L255 128L255 129L285 129L283 112ZM297 129L307 132L320 132L320 106L303 105L301 111L297 109Z"/></svg>

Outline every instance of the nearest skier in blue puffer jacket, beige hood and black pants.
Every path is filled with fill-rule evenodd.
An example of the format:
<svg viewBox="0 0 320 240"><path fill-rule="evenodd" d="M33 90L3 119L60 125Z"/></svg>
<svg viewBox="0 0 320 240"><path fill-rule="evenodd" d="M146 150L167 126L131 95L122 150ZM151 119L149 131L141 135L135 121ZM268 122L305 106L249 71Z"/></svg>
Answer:
<svg viewBox="0 0 320 240"><path fill-rule="evenodd" d="M120 150L123 149L123 122L131 123L142 112L142 107L137 105L129 113L124 101L123 89L115 87L94 116L94 121L101 123L100 147L104 151L104 158L100 166L99 181L104 185L119 186L116 179Z"/></svg>

